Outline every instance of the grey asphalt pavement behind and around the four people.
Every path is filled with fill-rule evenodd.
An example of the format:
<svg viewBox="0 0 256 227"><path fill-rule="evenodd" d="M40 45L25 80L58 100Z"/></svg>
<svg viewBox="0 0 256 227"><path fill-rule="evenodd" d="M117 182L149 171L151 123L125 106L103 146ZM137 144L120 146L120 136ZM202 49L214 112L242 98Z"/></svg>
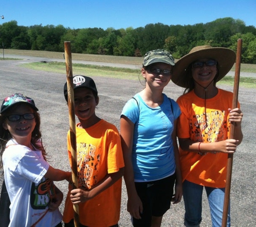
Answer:
<svg viewBox="0 0 256 227"><path fill-rule="evenodd" d="M53 167L67 171L69 164L66 152L66 133L69 126L68 108L63 96L66 75L19 67L20 63L43 60L40 58L28 58L27 56L25 58L22 56L21 59L16 61L0 61L0 100L13 93L23 93L35 100L41 115L41 131L46 150L49 153L50 164ZM51 59L44 60L50 61ZM75 75L75 72L73 74ZM241 73L241 76L243 75L246 76L246 74ZM143 86L139 80L132 81L105 77L94 77L93 79L98 87L100 97L96 114L113 123L119 129L119 118L124 103L134 94L142 90ZM233 90L232 87L228 86L219 87L230 91ZM170 82L168 87L165 88L164 93L176 100L178 96L182 95L183 89ZM244 112L244 140L234 154L230 195L231 226L237 227L256 226L255 96L256 89L240 87L239 101L241 103L241 109ZM2 179L3 175L0 175L1 185ZM66 196L67 182L57 182L56 185ZM201 226L211 226L209 206L205 193L203 196L203 220ZM130 224L129 214L126 211L126 201L127 194L123 183L120 227L132 226ZM179 204L172 205L171 209L163 217L162 226L183 226L183 206L183 201ZM63 207L64 202L60 207L61 212L63 211Z"/></svg>

